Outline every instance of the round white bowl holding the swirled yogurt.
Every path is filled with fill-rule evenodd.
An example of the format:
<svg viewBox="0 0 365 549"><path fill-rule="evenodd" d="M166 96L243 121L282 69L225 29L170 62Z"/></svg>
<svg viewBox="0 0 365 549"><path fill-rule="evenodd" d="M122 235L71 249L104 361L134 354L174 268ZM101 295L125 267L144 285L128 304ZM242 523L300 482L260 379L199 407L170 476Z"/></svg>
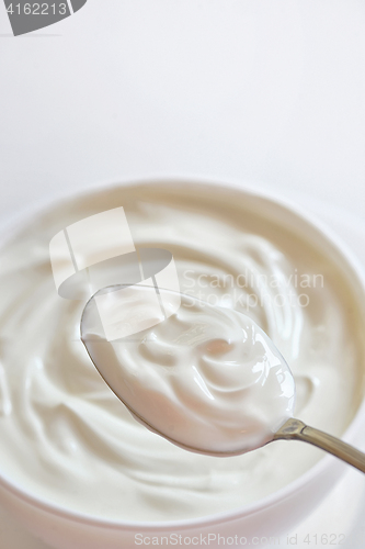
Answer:
<svg viewBox="0 0 365 549"><path fill-rule="evenodd" d="M300 212L297 206L282 199L270 197L267 193L242 189L238 184L182 180L150 181L150 184L184 186L186 189L194 186L195 190L201 188L202 192L214 191L225 194L229 192L237 195L237 201L244 199L246 208L248 204L251 204L254 210L260 208L262 214L278 221L288 229L295 227L296 233L305 234L306 238L313 243L317 249L330 257L345 274L349 287L357 296L358 310L365 326L365 278L361 265L350 250L339 242L337 235L331 234L321 223ZM356 436L364 428L364 425L365 401L363 399L343 439L356 446ZM148 541L151 544L153 536L159 538L172 536L171 547L174 545L205 546L205 544L209 547L219 547L218 535L224 536L226 540L232 538L233 547L240 547L240 545L264 546L266 538L269 545L270 537L277 537L289 531L308 516L329 494L346 467L349 466L340 460L324 456L297 480L259 502L227 513L191 520L142 523L95 519L43 502L7 480L2 477L1 471L0 496L3 504L31 531L52 547L59 549L132 548L138 545L148 545ZM174 542L175 540L178 542Z"/></svg>

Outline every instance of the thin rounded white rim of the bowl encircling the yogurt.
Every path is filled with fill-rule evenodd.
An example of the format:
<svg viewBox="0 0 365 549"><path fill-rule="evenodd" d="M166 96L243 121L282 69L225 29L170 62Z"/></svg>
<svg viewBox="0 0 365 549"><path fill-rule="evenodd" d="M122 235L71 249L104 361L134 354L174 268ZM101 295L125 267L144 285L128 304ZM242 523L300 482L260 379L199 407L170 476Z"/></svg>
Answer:
<svg viewBox="0 0 365 549"><path fill-rule="evenodd" d="M78 189L75 192L64 191L57 193L57 195L52 195L37 203L31 205L30 209L21 211L11 215L8 221L0 226L0 247L2 247L8 240L10 240L14 235L26 226L33 219L39 214L47 213L52 206L56 203L58 206L67 204L70 200L80 200L83 195L90 197L91 194L98 194L100 192L113 191L117 188L133 188L133 187L146 187L146 186L159 186L160 188L169 188L173 186L174 188L182 187L194 187L195 189L199 187L202 190L207 188L215 188L215 190L225 191L236 191L241 197L249 197L251 200L262 200L266 203L271 203L276 211L282 210L289 215L294 215L303 224L308 225L313 229L319 236L327 243L330 244L331 248L335 254L342 256L345 259L346 270L352 271L352 276L357 279L361 288L364 292L364 312L365 312L365 270L356 257L356 255L350 249L346 243L330 227L327 226L324 222L319 220L317 215L307 212L304 208L299 206L287 198L284 198L278 192L273 192L266 188L254 188L253 182L248 181L232 181L229 179L215 179L206 177L176 177L176 176L162 176L153 178L125 178L121 180L109 181L106 184L101 182L89 186L87 188ZM4 231L9 231L4 234ZM347 440L352 438L352 435L360 430L362 424L365 421L365 395L363 396L355 415L353 416L350 425L344 432L342 439ZM223 458L225 459L225 458ZM133 530L136 531L138 528L139 533L144 531L176 531L191 529L193 527L206 527L212 525L217 525L220 523L233 522L243 517L252 516L256 513L263 512L272 506L275 506L280 502L283 502L290 497L295 492L305 489L306 485L310 484L318 475L326 471L330 466L332 467L337 463L337 458L331 455L323 455L323 457L315 463L310 469L300 477L296 478L285 486L280 490L269 494L253 503L242 505L240 507L235 507L233 509L214 513L205 515L202 517L187 518L187 519L174 519L174 520L117 520L109 519L104 517L93 516L79 511L67 509L61 505L54 502L47 501L42 497L37 497L32 493L27 493L24 489L19 486L16 482L7 479L5 475L0 471L0 485L5 491L10 492L11 495L16 496L23 503L38 508L39 511L54 515L73 523L79 523L83 525L89 525L91 527L107 528L113 530ZM340 462L341 463L341 462ZM345 469L344 466L343 470ZM340 478L340 475L339 475Z"/></svg>

